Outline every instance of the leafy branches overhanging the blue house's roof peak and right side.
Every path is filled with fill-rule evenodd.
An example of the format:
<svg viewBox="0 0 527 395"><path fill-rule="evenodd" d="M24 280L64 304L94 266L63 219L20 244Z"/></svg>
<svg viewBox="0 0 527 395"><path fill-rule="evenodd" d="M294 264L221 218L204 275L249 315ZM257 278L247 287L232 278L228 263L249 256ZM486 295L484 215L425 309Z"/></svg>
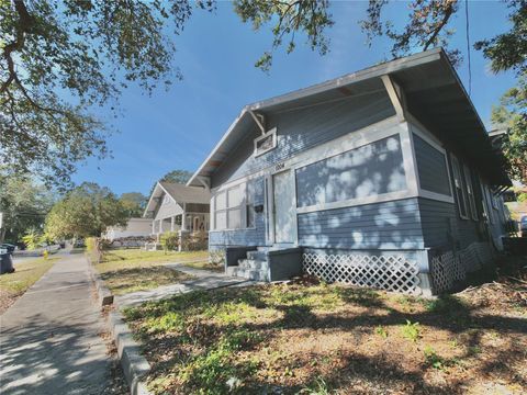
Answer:
<svg viewBox="0 0 527 395"><path fill-rule="evenodd" d="M386 35L393 41L394 57L406 55L415 47L448 46L453 33L448 23L459 11L458 0L414 0L402 31L396 31L391 21L382 20L382 10L388 3L388 0L370 0L368 18L362 22L370 43L375 36ZM492 122L508 131L502 148L511 165L511 178L527 182L527 1L511 0L506 7L511 30L476 42L474 48L491 60L494 72L512 70L518 78L516 87L507 90L500 105L493 109ZM455 63L461 60L459 49L449 50L449 55Z"/></svg>

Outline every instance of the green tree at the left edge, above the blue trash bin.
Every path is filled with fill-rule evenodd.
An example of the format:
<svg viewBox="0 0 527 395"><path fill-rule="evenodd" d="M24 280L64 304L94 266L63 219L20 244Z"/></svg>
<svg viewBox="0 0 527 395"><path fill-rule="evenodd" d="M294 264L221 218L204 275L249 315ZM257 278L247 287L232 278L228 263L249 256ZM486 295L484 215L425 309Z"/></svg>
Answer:
<svg viewBox="0 0 527 395"><path fill-rule="evenodd" d="M19 242L30 229L42 228L53 203L53 194L44 185L30 177L0 169L0 212L3 213L0 242Z"/></svg>

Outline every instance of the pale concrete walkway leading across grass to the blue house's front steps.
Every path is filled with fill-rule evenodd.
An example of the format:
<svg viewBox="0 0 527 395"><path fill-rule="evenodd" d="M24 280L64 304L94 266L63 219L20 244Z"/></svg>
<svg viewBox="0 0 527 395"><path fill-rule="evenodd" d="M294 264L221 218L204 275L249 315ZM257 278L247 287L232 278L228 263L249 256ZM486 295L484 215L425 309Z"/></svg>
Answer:
<svg viewBox="0 0 527 395"><path fill-rule="evenodd" d="M189 268L186 267L184 263L167 263L164 266L193 275L194 279L182 281L177 284L162 285L154 290L138 291L124 295L115 295L113 300L114 304L119 308L123 308L136 306L138 304L149 301L159 301L161 298L197 290L214 290L225 286L245 286L257 283L256 281L233 278L210 270Z"/></svg>

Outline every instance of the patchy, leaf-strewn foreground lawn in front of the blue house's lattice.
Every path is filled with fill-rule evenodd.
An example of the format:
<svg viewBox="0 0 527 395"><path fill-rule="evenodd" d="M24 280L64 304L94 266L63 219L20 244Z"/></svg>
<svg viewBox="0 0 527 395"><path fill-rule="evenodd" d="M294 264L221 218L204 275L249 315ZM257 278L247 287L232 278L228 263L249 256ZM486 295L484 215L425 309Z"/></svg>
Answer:
<svg viewBox="0 0 527 395"><path fill-rule="evenodd" d="M424 300L306 279L125 316L156 394L525 394L526 294L520 281Z"/></svg>

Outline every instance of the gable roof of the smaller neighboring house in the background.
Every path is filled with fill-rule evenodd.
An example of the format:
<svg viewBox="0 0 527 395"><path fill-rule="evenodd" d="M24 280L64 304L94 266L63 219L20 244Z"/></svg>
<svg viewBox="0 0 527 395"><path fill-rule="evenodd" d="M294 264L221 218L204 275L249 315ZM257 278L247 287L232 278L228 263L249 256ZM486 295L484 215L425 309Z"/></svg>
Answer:
<svg viewBox="0 0 527 395"><path fill-rule="evenodd" d="M156 200L160 199L164 193L167 193L181 206L183 203L210 204L211 202L211 193L202 187L188 187L177 182L158 181L146 205L144 217L147 216L147 213L156 210Z"/></svg>

